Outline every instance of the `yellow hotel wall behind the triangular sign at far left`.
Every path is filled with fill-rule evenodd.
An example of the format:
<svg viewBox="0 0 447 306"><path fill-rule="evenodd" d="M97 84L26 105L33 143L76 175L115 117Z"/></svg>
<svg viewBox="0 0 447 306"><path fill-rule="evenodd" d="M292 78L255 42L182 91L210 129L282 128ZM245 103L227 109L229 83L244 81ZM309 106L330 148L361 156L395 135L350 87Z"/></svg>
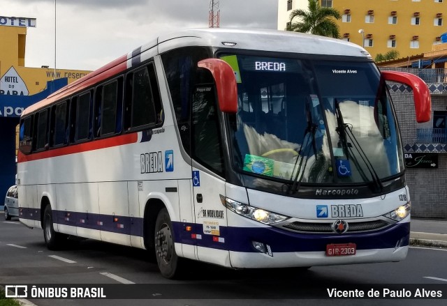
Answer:
<svg viewBox="0 0 447 306"><path fill-rule="evenodd" d="M26 35L26 27L0 26L0 79L3 79L10 68L13 68L26 85L28 95L34 95L45 89L47 81L54 79L54 69L24 67ZM69 84L89 72L87 70L57 69L55 78L67 77ZM21 80L19 81L21 82ZM20 84L0 82L0 93L13 95L14 89L17 87L21 88Z"/></svg>

